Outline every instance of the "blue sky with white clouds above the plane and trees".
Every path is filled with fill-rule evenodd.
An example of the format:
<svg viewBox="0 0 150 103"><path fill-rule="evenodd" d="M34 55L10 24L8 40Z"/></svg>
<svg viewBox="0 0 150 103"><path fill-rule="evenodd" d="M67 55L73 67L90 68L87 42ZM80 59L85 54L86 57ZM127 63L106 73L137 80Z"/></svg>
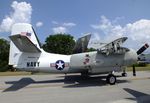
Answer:
<svg viewBox="0 0 150 103"><path fill-rule="evenodd" d="M0 0L0 38L12 25L30 23L39 40L56 33L75 39L91 33L91 43L128 37L125 45L150 44L150 0ZM150 50L148 50L150 51Z"/></svg>

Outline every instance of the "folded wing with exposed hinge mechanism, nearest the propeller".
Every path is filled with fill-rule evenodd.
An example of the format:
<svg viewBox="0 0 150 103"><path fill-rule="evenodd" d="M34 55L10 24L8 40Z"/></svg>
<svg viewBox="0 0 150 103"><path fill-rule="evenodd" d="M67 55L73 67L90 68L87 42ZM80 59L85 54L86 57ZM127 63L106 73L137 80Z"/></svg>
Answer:
<svg viewBox="0 0 150 103"><path fill-rule="evenodd" d="M100 51L102 53L124 53L126 51L128 51L127 48L121 47L121 45L127 40L127 37L122 37L122 38L118 38L106 45L104 45L103 47L100 48Z"/></svg>

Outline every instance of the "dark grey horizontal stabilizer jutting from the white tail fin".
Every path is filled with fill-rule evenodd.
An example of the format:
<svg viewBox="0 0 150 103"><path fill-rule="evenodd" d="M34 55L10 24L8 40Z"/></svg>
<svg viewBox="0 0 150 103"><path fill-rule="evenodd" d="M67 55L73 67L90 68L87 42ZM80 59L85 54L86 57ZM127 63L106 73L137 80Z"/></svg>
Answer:
<svg viewBox="0 0 150 103"><path fill-rule="evenodd" d="M20 34L9 36L21 52L40 53L41 50L27 37Z"/></svg>

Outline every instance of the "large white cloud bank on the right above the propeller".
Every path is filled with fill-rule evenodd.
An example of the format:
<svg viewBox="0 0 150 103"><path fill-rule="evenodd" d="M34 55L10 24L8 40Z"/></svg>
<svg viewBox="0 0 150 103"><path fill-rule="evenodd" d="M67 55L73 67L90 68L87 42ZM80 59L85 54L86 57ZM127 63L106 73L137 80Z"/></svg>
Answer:
<svg viewBox="0 0 150 103"><path fill-rule="evenodd" d="M128 47L138 49L144 43L150 44L150 20L141 19L134 23L121 26L119 24L113 24L113 21L110 21L105 16L101 16L100 23L91 25L91 27L104 34L100 38L102 42L110 42L116 38L126 36L129 38L126 41Z"/></svg>

